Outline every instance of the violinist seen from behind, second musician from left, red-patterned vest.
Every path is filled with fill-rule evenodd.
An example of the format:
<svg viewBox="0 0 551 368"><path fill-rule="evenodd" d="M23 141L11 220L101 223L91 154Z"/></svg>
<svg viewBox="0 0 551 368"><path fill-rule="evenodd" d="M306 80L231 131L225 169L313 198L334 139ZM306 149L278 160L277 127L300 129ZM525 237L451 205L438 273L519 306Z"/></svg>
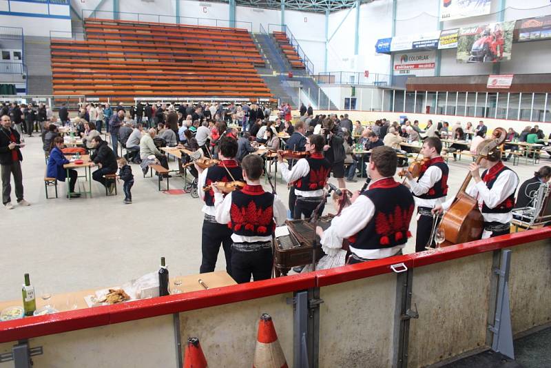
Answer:
<svg viewBox="0 0 551 368"><path fill-rule="evenodd" d="M231 231L231 277L236 283L271 278L271 240L276 225L282 225L287 209L277 194L264 192L260 176L264 161L256 154L245 156L242 176L247 185L227 194L214 190L216 221ZM251 208L253 210L251 211Z"/></svg>

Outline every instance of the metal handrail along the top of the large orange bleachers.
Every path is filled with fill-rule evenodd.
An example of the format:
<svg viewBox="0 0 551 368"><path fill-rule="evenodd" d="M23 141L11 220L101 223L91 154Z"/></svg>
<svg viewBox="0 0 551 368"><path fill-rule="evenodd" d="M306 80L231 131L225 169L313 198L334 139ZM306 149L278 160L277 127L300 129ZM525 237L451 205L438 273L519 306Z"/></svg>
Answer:
<svg viewBox="0 0 551 368"><path fill-rule="evenodd" d="M89 15L85 15L85 12L90 12ZM249 32L253 32L253 23L252 22L249 22L249 21L230 21L229 19L212 19L212 18L199 18L199 17L177 17L176 15L163 15L163 14L148 14L148 13L136 13L136 12L114 12L114 11L111 11L111 10L92 10L92 9L83 9L82 10L82 19L86 19L86 18L97 18L97 14L102 14L102 13L107 13L107 14L111 14L110 18L107 18L107 19L116 19L116 20L121 20L121 21L154 21L155 17L156 17L156 22L157 23L174 23L174 24L182 24L182 25L202 25L202 26L205 26L205 27L225 27L225 28L238 28L240 29L237 25L238 23L242 24L242 25L245 25L243 28L241 29L246 29L248 30ZM135 15L135 19L122 19L121 18L121 14L131 14L131 15ZM140 19L140 17L142 17L142 19ZM147 17L148 19L143 19ZM101 18L100 18L101 19ZM177 21L177 19L179 20L179 22ZM182 23L182 19L194 19L196 20L196 24L192 24L192 23ZM161 21L163 20L163 21ZM200 24L200 21L205 21L206 24ZM214 25L212 24L212 22L214 21ZM225 23L222 23L222 24L218 24L218 22L222 23L222 22L225 22ZM230 24L233 23L235 24L236 26L235 27L231 27Z"/></svg>

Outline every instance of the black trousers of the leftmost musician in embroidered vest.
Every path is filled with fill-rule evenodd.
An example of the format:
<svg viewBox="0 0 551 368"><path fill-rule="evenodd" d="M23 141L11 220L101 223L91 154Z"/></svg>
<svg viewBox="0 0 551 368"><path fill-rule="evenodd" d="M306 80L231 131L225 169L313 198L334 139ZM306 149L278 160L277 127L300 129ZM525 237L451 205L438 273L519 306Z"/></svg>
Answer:
<svg viewBox="0 0 551 368"><path fill-rule="evenodd" d="M226 272L231 275L231 229L220 223L211 223L203 221L202 223L202 238L201 238L201 267L199 272L214 272L216 267L216 259L218 259L218 251L220 243L224 249L226 257Z"/></svg>

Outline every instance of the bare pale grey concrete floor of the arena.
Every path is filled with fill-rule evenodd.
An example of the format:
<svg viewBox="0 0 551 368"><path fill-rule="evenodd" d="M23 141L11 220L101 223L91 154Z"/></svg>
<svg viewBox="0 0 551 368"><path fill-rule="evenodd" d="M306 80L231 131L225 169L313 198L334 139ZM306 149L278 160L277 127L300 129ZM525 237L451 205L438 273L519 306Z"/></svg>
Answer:
<svg viewBox="0 0 551 368"><path fill-rule="evenodd" d="M202 201L189 194L170 195L157 190L156 178L143 178L138 165L132 205L123 204L122 185L118 196L105 196L103 186L93 182L93 198L65 198L65 184L60 183L60 198L45 199L45 172L42 142L39 136L25 138L23 148L23 185L30 207L0 208L3 234L3 277L0 300L21 298L23 274L30 273L32 284L50 292L72 292L94 287L120 285L158 269L161 256L167 259L171 274L196 274L200 265ZM541 165L514 166L521 181L530 178ZM176 163L169 163L176 169ZM450 162L448 185L455 194L466 176L467 159ZM512 165L512 164L510 164ZM82 171L80 169L79 171ZM80 185L84 182L79 179ZM331 183L336 180L331 178ZM352 183L359 190L363 183ZM183 187L183 179L170 179L173 189ZM268 190L269 185L264 185ZM288 191L278 181L278 194L287 203ZM52 190L52 189L50 189ZM53 192L52 192L53 194ZM12 200L15 201L12 193ZM329 208L328 208L329 207ZM335 212L331 205L327 211ZM415 221L411 231L415 234ZM413 238L406 253L414 250ZM217 270L225 269L222 252Z"/></svg>

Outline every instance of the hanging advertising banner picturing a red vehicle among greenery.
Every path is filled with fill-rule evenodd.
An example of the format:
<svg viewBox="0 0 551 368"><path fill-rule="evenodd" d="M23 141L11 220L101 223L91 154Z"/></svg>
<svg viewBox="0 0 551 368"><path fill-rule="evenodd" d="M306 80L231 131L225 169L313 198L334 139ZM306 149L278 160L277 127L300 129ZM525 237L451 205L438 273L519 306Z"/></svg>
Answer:
<svg viewBox="0 0 551 368"><path fill-rule="evenodd" d="M511 59L514 21L459 29L459 63L496 63Z"/></svg>

